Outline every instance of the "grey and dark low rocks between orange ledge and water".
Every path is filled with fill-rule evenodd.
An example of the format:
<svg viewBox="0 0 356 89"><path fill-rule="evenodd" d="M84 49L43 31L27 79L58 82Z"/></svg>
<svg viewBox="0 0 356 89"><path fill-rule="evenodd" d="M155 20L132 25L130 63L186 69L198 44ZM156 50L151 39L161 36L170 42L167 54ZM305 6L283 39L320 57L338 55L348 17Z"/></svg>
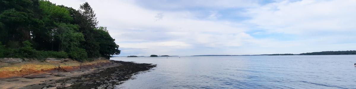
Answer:
<svg viewBox="0 0 356 89"><path fill-rule="evenodd" d="M149 70L156 65L110 60L110 64L92 67L88 70L58 72L45 78L0 79L0 88L19 89L112 89L124 83L138 72ZM64 76L57 76L64 75Z"/></svg>

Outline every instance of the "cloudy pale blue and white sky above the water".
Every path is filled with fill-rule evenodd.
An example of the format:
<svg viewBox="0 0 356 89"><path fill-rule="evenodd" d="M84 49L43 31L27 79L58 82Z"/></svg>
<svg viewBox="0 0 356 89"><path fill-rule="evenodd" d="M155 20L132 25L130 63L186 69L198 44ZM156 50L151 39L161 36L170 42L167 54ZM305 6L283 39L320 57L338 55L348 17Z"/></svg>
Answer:
<svg viewBox="0 0 356 89"><path fill-rule="evenodd" d="M356 0L49 0L88 2L119 56L356 50Z"/></svg>

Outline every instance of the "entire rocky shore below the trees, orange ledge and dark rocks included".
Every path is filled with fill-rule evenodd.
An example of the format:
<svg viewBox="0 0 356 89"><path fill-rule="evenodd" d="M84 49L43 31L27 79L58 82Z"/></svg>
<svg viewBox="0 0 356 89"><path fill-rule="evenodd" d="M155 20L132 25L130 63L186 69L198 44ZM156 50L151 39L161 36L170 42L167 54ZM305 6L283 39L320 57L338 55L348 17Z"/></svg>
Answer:
<svg viewBox="0 0 356 89"><path fill-rule="evenodd" d="M92 62L47 58L0 59L0 89L113 89L156 65L97 58Z"/></svg>

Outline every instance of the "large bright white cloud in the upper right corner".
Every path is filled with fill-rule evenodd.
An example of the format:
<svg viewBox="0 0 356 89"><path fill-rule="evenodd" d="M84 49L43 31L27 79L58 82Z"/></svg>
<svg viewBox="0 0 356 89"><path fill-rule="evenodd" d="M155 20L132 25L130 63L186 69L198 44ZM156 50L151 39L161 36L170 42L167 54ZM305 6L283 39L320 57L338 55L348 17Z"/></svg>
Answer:
<svg viewBox="0 0 356 89"><path fill-rule="evenodd" d="M312 34L353 31L356 28L355 0L281 1L248 9L251 20L268 32Z"/></svg>

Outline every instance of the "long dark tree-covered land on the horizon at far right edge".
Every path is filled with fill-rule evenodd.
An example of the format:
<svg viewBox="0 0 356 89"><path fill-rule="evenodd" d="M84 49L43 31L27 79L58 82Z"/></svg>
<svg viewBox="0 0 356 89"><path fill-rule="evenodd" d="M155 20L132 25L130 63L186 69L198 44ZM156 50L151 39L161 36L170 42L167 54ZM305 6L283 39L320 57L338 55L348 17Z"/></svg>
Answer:
<svg viewBox="0 0 356 89"><path fill-rule="evenodd" d="M300 55L355 55L356 51L323 51L312 53L300 53Z"/></svg>

